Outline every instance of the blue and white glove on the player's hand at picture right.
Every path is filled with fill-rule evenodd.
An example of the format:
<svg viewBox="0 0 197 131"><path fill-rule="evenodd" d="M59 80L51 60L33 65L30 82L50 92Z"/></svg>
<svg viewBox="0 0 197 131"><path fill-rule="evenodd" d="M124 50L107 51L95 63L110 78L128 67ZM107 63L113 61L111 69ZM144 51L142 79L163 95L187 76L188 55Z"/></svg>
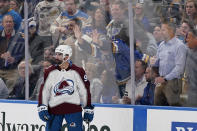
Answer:
<svg viewBox="0 0 197 131"><path fill-rule="evenodd" d="M94 118L94 106L84 108L83 120L87 123L91 122Z"/></svg>

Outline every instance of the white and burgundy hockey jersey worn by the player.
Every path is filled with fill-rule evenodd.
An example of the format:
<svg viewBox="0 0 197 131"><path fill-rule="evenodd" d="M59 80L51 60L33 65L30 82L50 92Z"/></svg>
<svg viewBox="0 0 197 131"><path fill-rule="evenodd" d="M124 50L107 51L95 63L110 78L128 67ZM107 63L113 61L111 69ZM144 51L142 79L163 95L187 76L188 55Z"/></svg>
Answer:
<svg viewBox="0 0 197 131"><path fill-rule="evenodd" d="M91 105L90 82L83 68L70 64L66 70L53 65L45 70L44 83L39 93L39 105L49 107L51 114L82 111Z"/></svg>

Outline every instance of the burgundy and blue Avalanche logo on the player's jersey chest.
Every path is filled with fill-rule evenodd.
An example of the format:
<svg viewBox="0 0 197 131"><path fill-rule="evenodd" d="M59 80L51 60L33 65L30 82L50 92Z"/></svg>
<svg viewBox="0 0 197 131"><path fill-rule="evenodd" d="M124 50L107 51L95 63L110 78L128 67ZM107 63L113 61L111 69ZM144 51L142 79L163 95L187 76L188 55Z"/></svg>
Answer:
<svg viewBox="0 0 197 131"><path fill-rule="evenodd" d="M54 87L54 93L56 96L62 94L72 95L74 93L74 82L70 79L63 78Z"/></svg>

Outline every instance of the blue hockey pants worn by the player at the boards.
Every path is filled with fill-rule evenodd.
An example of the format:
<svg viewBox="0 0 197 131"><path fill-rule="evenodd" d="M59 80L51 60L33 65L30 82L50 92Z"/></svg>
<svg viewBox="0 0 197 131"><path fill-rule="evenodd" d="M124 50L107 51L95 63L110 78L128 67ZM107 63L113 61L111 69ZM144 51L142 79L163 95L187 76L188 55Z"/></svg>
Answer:
<svg viewBox="0 0 197 131"><path fill-rule="evenodd" d="M52 119L46 123L46 131L61 131L63 119L66 120L68 131L83 131L81 112L51 117Z"/></svg>

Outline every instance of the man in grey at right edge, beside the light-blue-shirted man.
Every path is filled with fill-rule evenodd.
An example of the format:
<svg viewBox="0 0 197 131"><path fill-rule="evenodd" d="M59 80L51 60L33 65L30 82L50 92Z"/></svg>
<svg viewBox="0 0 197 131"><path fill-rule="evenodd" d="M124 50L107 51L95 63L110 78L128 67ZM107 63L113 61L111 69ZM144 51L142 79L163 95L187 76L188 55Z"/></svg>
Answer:
<svg viewBox="0 0 197 131"><path fill-rule="evenodd" d="M197 102L197 36L193 32L189 32L188 37L186 39L188 44L188 52L186 59L186 78L188 85L188 100L187 106L196 107Z"/></svg>

